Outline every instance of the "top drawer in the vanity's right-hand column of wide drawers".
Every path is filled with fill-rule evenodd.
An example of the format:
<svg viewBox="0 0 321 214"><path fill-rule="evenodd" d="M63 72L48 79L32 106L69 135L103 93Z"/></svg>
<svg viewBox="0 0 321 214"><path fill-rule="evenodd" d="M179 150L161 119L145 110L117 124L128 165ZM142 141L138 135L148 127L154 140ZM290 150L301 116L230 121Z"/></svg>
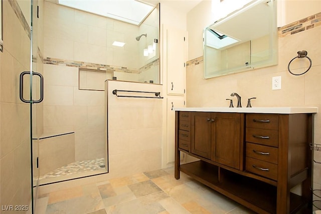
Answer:
<svg viewBox="0 0 321 214"><path fill-rule="evenodd" d="M246 114L246 127L278 130L279 116L277 114Z"/></svg>

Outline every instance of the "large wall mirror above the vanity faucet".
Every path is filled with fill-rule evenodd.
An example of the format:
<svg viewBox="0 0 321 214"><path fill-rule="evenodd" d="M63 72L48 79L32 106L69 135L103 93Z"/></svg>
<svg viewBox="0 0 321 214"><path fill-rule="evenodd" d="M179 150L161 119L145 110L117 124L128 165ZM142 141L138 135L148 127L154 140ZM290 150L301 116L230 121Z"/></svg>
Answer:
<svg viewBox="0 0 321 214"><path fill-rule="evenodd" d="M256 0L204 29L204 78L277 64L275 0Z"/></svg>

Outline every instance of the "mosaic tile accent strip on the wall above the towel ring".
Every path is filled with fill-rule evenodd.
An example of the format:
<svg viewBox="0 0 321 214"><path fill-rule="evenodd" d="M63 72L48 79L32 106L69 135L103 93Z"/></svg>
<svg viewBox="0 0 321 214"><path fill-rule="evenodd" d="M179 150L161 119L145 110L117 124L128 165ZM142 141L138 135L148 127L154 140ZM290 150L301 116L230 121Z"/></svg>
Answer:
<svg viewBox="0 0 321 214"><path fill-rule="evenodd" d="M321 13L278 28L278 36L286 37L319 26L321 26Z"/></svg>

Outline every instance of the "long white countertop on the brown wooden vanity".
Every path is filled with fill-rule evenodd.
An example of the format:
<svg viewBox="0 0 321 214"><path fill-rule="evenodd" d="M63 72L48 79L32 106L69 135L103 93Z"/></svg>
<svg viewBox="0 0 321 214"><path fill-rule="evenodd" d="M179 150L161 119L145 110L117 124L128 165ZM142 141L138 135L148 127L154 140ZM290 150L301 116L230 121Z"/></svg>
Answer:
<svg viewBox="0 0 321 214"><path fill-rule="evenodd" d="M271 113L271 114L300 114L317 113L317 107L186 107L173 108L174 111L205 111L205 112L236 112L236 113Z"/></svg>

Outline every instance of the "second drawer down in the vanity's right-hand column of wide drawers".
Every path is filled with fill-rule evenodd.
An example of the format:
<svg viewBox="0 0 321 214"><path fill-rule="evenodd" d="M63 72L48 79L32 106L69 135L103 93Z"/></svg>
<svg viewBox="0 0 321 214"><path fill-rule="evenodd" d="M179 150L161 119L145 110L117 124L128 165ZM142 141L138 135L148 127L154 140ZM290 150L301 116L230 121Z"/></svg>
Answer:
<svg viewBox="0 0 321 214"><path fill-rule="evenodd" d="M278 138L278 130L246 128L245 139L247 142L278 147Z"/></svg>

